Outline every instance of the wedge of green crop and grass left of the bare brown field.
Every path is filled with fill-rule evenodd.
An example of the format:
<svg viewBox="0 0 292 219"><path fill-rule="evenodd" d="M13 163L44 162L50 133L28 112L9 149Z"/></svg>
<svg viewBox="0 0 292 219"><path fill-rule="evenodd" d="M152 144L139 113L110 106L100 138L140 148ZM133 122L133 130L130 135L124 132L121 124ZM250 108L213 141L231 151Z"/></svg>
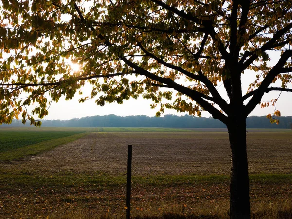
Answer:
<svg viewBox="0 0 292 219"><path fill-rule="evenodd" d="M0 132L1 134L3 132ZM11 132L10 132L11 133ZM12 132L13 133L13 132ZM51 139L50 138L46 138L45 135L52 134ZM9 133L7 133L8 135ZM28 137L30 138L36 138L38 140L39 143L36 144L30 144L32 142L36 142L35 139L30 140L28 137L25 136L25 134L28 135ZM73 132L65 132L65 133L50 133L50 132L44 132L41 133L42 135L37 135L36 132L23 132L23 133L15 133L15 135L11 134L10 137L15 137L18 138L18 142L19 144L21 144L21 141L24 141L23 144L21 144L21 147L13 147L11 145L8 144L8 146L5 146L5 142L4 142L4 146L3 148L8 150L2 150L2 152L0 152L0 161L8 161L8 160L13 160L13 159L21 159L21 158L25 158L26 156L30 156L30 155L37 155L39 153L42 153L44 151L49 151L57 146L66 144L68 142L72 142L74 140L77 140L81 137L83 137L84 135L87 135L88 133L77 133L75 132L75 134ZM66 136L67 135L67 136ZM37 137L39 138L37 138ZM65 136L65 137L63 137ZM50 139L50 140L46 140L46 139ZM6 141L9 142L9 141ZM2 145L0 146L2 147Z"/></svg>

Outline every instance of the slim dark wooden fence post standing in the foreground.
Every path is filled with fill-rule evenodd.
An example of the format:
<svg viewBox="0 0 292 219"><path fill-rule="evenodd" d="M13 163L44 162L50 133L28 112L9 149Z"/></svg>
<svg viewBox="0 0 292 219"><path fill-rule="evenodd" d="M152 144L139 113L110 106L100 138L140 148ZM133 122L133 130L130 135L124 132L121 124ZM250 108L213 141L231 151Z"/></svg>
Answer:
<svg viewBox="0 0 292 219"><path fill-rule="evenodd" d="M127 188L126 188L126 219L131 218L131 180L132 180L132 145L128 145Z"/></svg>

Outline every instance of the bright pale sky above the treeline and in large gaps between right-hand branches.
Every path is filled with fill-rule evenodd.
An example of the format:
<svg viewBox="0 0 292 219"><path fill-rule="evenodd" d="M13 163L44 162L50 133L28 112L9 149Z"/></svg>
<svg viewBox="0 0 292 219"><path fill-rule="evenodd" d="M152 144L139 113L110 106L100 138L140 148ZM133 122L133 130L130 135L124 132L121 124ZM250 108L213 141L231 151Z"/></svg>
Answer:
<svg viewBox="0 0 292 219"><path fill-rule="evenodd" d="M274 66L280 58L280 54L277 52L269 52L271 61L269 65ZM246 71L242 75L242 93L245 94L249 84L255 80L255 73L252 71ZM273 87L281 87L280 82L272 84ZM222 95L224 100L228 100L224 86L218 86L218 91ZM292 88L292 84L288 85L288 88ZM83 93L90 94L91 90L89 87L83 88ZM272 91L265 94L262 98L262 102L271 101L272 99L278 98L279 91ZM151 100L143 99L139 97L137 100L130 99L125 100L123 104L117 103L106 103L104 106L98 106L95 104L95 100L87 100L84 103L79 103L78 99L81 96L76 95L72 100L65 101L64 98L58 103L53 102L49 109L49 115L43 119L53 120L69 120L72 118L82 118L87 116L95 115L109 115L115 114L117 116L130 116L130 115L146 115L155 116L155 113L159 110L150 109ZM246 104L246 103L245 103ZM276 109L280 110L282 116L292 116L292 92L282 92L280 98L276 103ZM268 114L273 115L275 110L274 106L261 108L257 105L256 108L251 112L250 116L266 116ZM174 115L185 115L186 113L178 113L175 110L165 109L165 114ZM203 117L211 117L212 115L206 111L202 112Z"/></svg>

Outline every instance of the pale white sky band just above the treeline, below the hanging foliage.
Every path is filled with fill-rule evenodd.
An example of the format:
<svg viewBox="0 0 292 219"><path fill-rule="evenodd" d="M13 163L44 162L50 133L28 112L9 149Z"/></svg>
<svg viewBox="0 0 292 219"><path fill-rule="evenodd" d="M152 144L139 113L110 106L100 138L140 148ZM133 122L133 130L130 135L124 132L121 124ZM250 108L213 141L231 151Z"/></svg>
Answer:
<svg viewBox="0 0 292 219"><path fill-rule="evenodd" d="M277 92L278 93L278 92ZM275 95L277 96L277 95ZM271 100L264 98L265 100ZM277 102L277 109L281 111L282 116L292 116L292 95L285 95L282 93L281 98ZM288 101L289 100L289 101ZM123 104L110 103L105 106L97 106L94 100L87 100L84 103L79 103L78 98L72 100L61 100L58 103L52 103L49 109L49 115L44 119L59 119L68 120L72 118L81 118L86 116L95 115L109 115L115 114L118 116L130 116L130 115L147 115L155 116L157 110L150 109L151 100L144 100L139 98L138 100L126 100ZM261 108L259 105L250 114L253 116L265 116L274 112L274 107ZM166 110L165 114L185 115L180 114L175 110ZM203 117L210 117L208 112L202 113Z"/></svg>

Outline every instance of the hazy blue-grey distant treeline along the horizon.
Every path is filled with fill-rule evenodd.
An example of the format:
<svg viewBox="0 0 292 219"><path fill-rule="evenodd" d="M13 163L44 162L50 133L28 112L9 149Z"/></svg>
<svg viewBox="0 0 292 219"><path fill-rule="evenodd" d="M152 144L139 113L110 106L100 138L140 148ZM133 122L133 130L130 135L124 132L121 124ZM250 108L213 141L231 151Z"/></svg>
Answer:
<svg viewBox="0 0 292 219"><path fill-rule="evenodd" d="M247 118L247 128L290 128L292 117L278 117L280 124L271 124L265 116ZM2 125L8 126L8 125ZM23 126L21 121L13 120L11 126ZM29 126L26 124L25 126ZM43 127L169 127L169 128L226 128L217 119L194 116L164 115L163 117L140 116L91 116L70 120L42 120Z"/></svg>

